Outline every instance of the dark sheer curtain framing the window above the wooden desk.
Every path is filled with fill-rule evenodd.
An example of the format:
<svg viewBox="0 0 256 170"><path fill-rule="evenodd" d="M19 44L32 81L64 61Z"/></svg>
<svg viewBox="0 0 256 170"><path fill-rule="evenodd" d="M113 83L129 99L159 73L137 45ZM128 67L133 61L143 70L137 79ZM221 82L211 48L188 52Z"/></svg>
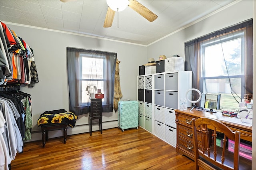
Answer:
<svg viewBox="0 0 256 170"><path fill-rule="evenodd" d="M202 85L200 85L200 77L199 77L199 67L200 67L200 43L205 40L214 39L217 36L221 36L224 34L229 34L234 30L238 30L241 28L246 28L246 80L245 80L245 93L252 93L252 18L246 20L244 22L240 22L233 26L229 26L222 30L218 30L216 32L212 32L205 36L196 38L194 40L190 40L185 42L185 70L192 71L193 75L193 85L192 87L195 89L199 89L203 91ZM198 96L197 96L198 97Z"/></svg>

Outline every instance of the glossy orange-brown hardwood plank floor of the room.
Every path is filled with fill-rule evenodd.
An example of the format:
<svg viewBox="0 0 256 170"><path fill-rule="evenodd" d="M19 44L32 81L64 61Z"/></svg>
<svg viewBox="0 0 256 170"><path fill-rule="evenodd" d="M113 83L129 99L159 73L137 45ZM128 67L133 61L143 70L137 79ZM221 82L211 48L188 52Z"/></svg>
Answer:
<svg viewBox="0 0 256 170"><path fill-rule="evenodd" d="M192 170L193 166L173 146L140 127L70 135L66 144L62 137L50 138L45 148L42 140L26 142L11 170Z"/></svg>

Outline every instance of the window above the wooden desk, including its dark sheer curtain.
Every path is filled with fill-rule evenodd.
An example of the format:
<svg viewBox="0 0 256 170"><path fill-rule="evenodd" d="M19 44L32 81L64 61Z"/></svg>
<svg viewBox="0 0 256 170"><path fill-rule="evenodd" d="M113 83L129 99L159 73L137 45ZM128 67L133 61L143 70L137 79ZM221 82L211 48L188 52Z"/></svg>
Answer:
<svg viewBox="0 0 256 170"><path fill-rule="evenodd" d="M238 109L252 93L252 19L186 42L185 70L193 88L221 94L220 108Z"/></svg>

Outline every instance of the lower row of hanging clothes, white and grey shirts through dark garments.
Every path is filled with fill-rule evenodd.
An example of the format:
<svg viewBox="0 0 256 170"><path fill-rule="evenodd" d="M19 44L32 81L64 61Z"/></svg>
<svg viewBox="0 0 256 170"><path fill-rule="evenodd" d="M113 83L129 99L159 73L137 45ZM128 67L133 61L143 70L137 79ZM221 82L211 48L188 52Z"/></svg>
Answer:
<svg viewBox="0 0 256 170"><path fill-rule="evenodd" d="M27 93L0 92L0 169L9 165L16 154L23 151L25 140L31 139L31 103Z"/></svg>

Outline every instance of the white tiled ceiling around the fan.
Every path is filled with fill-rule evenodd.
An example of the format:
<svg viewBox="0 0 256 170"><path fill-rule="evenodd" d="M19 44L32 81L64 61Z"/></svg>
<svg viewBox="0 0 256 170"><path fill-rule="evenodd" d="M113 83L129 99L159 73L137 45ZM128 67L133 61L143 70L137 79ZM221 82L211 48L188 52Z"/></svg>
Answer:
<svg viewBox="0 0 256 170"><path fill-rule="evenodd" d="M149 22L127 7L116 12L112 27L103 28L106 0L0 0L0 20L148 45L240 0L137 1L158 18Z"/></svg>

